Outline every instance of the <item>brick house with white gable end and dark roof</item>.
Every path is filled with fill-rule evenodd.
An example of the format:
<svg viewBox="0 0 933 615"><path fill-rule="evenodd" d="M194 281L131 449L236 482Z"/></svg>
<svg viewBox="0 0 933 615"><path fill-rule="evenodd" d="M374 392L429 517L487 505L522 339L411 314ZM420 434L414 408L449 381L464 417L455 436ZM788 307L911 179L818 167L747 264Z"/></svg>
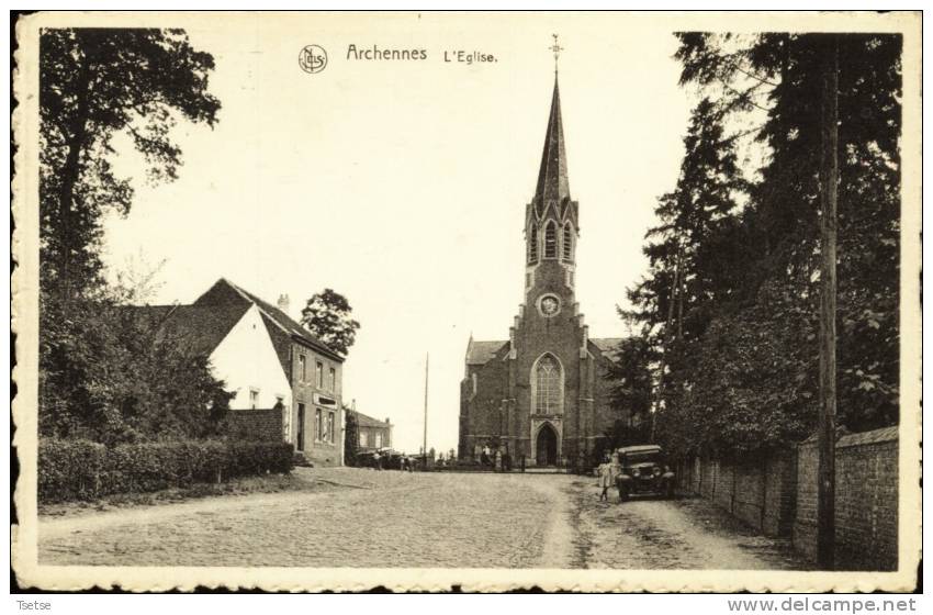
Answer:
<svg viewBox="0 0 933 615"><path fill-rule="evenodd" d="M342 463L344 358L289 316L286 297L272 305L221 279L191 305L137 310L164 339L207 356L214 376L234 393L232 410L281 404L282 437L297 454L324 466Z"/></svg>

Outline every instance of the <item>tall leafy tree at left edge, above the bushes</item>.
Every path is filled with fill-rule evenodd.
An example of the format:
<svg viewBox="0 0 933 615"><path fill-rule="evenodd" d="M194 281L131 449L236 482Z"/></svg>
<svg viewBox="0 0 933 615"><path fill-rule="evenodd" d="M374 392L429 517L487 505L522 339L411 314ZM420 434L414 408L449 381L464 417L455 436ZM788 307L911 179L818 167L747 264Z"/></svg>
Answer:
<svg viewBox="0 0 933 615"><path fill-rule="evenodd" d="M133 186L116 177L112 142L126 133L149 180L172 180L177 119L213 126L214 59L180 30L49 29L40 37L40 236L46 291L67 301L94 288L101 215L130 211Z"/></svg>

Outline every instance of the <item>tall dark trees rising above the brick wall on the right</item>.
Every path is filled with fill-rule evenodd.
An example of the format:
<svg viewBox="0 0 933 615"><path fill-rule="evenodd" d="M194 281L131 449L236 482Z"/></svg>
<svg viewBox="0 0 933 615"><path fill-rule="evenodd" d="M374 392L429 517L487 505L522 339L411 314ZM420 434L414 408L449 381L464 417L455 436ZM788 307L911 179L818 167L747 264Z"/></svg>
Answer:
<svg viewBox="0 0 933 615"><path fill-rule="evenodd" d="M656 433L674 450L779 447L816 424L824 36L678 35L700 100L625 314L661 357ZM839 407L861 431L898 420L901 38L839 48ZM760 160L739 164L743 139Z"/></svg>

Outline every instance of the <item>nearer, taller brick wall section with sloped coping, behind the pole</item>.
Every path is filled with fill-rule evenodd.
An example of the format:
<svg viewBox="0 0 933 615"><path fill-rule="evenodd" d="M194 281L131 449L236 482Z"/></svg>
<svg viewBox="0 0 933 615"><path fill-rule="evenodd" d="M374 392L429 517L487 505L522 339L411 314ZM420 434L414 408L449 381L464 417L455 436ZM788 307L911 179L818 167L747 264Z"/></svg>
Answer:
<svg viewBox="0 0 933 615"><path fill-rule="evenodd" d="M817 441L797 449L797 518L794 546L817 551ZM898 567L898 429L843 436L835 459L836 568L896 570Z"/></svg>

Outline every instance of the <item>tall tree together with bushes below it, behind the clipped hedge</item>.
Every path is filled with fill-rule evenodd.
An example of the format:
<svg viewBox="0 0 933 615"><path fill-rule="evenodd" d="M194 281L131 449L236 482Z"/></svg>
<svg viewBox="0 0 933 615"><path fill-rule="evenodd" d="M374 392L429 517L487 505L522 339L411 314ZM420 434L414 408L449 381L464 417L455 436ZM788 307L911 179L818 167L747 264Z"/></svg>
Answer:
<svg viewBox="0 0 933 615"><path fill-rule="evenodd" d="M231 395L206 357L159 338L101 272L101 217L130 212L113 171L128 134L153 181L171 180L177 119L214 125L213 57L178 30L52 29L40 38L40 432L114 444L211 435Z"/></svg>

